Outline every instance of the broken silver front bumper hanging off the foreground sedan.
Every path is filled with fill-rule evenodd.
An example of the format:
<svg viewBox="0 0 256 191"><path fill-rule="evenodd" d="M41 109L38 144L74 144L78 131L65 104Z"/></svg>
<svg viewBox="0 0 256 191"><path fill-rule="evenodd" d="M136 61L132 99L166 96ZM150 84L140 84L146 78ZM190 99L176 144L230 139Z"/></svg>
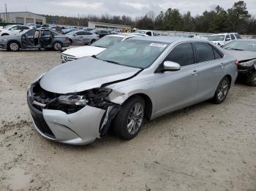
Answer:
<svg viewBox="0 0 256 191"><path fill-rule="evenodd" d="M99 138L99 126L105 110L85 106L78 112L66 114L59 110L42 109L27 98L34 127L46 139L64 144L89 144Z"/></svg>

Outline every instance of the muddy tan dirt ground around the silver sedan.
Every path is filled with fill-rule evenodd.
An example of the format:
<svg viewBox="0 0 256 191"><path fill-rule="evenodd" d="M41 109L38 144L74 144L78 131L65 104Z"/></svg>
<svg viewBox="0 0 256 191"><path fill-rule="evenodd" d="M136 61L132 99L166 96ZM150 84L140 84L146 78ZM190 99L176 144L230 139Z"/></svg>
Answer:
<svg viewBox="0 0 256 191"><path fill-rule="evenodd" d="M60 52L0 51L0 190L256 190L256 88L147 122L131 141L39 136L26 90Z"/></svg>

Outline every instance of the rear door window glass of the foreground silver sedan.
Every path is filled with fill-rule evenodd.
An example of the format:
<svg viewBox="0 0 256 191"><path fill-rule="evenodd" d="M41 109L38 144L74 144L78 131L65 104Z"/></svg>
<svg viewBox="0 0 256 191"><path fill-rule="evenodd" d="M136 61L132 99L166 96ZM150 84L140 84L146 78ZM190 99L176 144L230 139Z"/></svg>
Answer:
<svg viewBox="0 0 256 191"><path fill-rule="evenodd" d="M205 42L195 42L198 63L212 61L215 59L214 50L210 44Z"/></svg>

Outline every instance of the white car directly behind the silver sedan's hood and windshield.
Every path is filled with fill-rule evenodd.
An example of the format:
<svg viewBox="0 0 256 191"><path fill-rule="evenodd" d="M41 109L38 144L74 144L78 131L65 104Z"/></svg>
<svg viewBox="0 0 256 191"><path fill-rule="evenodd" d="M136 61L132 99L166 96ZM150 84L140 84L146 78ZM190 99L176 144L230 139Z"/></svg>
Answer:
<svg viewBox="0 0 256 191"><path fill-rule="evenodd" d="M122 42L125 39L129 39L138 35L133 34L110 34L108 36L102 37L102 39L97 40L91 44L91 46L74 47L69 48L61 53L61 62L65 63L67 61L73 61L78 58L85 56L97 55L99 52L106 50L108 47L116 44L117 42Z"/></svg>

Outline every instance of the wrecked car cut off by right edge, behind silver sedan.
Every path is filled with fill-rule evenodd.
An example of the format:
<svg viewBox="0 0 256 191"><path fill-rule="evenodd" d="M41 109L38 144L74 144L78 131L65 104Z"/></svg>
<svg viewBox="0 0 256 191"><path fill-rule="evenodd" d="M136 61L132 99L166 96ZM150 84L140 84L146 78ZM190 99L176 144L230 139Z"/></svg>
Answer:
<svg viewBox="0 0 256 191"><path fill-rule="evenodd" d="M238 39L222 47L238 60L238 77L256 86L256 39Z"/></svg>

